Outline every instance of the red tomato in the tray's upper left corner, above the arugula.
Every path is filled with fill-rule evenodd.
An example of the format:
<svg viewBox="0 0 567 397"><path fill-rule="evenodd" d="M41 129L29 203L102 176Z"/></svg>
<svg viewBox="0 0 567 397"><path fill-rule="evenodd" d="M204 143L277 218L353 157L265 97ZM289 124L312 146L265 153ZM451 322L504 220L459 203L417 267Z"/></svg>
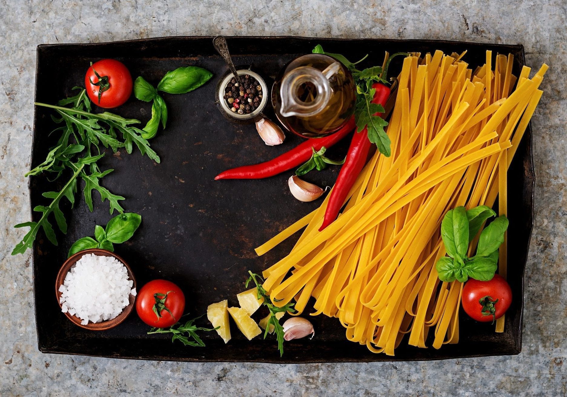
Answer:
<svg viewBox="0 0 567 397"><path fill-rule="evenodd" d="M132 94L132 76L122 62L103 59L89 66L84 86L88 97L96 105L117 107L128 101Z"/></svg>

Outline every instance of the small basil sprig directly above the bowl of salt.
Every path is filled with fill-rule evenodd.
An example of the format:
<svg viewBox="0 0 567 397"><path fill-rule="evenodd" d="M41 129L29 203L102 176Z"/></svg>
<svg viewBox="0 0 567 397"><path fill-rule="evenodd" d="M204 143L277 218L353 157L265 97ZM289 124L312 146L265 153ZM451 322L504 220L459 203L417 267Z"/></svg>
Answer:
<svg viewBox="0 0 567 397"><path fill-rule="evenodd" d="M142 216L134 212L125 212L108 221L106 227L95 226L95 239L83 237L75 241L69 249L69 257L79 251L90 248L102 248L114 252L114 244L121 244L134 235L142 223Z"/></svg>

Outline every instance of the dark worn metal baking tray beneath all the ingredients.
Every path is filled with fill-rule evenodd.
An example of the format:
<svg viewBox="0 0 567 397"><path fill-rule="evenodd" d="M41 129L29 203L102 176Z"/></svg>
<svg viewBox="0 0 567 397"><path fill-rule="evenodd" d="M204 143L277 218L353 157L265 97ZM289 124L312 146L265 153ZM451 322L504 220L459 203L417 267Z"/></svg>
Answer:
<svg viewBox="0 0 567 397"><path fill-rule="evenodd" d="M524 64L522 45L496 45L431 40L339 40L306 37L228 37L235 64L251 65L265 76L270 86L275 74L287 61L308 53L318 43L327 51L359 58L366 53L366 66L380 63L384 51L446 53L467 50L464 60L474 67L484 64L485 50L513 53L518 75ZM238 304L235 294L244 290L247 270L260 272L289 252L297 236L268 254L257 257L253 248L319 206L319 202L301 203L291 198L284 173L264 180L214 181L221 170L268 160L294 147L301 139L287 134L284 144L261 144L253 126L231 124L214 104L214 88L227 68L213 49L211 37L162 37L100 44L42 44L37 47L37 102L56 103L72 94L71 87L81 86L90 61L117 58L132 72L157 83L168 70L184 65L202 66L214 77L200 89L185 95L165 94L170 110L168 126L151 141L161 156L161 164L147 157L123 150L105 151L103 169L115 172L102 180L113 193L126 197L126 211L143 217L141 228L116 252L128 260L139 285L154 278L178 283L187 295L187 310L197 316L208 304L229 299ZM365 66L362 65L362 66ZM400 61L392 65L399 70ZM395 72L395 70L392 70ZM95 108L94 111L102 111ZM150 106L132 96L125 105L113 110L128 118L146 122ZM268 110L269 112L269 110ZM52 111L36 107L33 129L32 168L45 158L56 141L50 119ZM345 144L330 151L339 153ZM332 185L338 168L308 175L320 185ZM106 332L90 332L68 321L53 296L57 270L70 245L79 237L91 236L95 224L111 218L108 203L95 203L89 212L79 190L73 209L64 207L69 223L67 235L58 235L53 246L40 233L33 247L33 289L38 346L44 353L82 354L86 356L136 358L176 361L260 361L369 362L439 360L443 358L518 354L522 346L523 274L532 229L534 172L531 157L531 130L528 128L509 172L510 241L509 282L515 296L506 315L504 333L494 333L494 326L479 324L461 316L460 341L441 349L418 349L402 342L395 357L370 353L345 339L344 329L336 319L311 317L316 336L286 342L280 358L276 341L256 337L248 341L235 328L225 346L216 335L205 335L205 348L172 343L165 335L146 335L148 327L132 314L119 327ZM60 182L55 182L55 184ZM31 207L44 204L44 191L54 190L44 177L29 182ZM116 215L116 214L115 214ZM37 212L32 218L37 220ZM265 315L263 313L262 315ZM205 317L202 319L206 324ZM233 325L234 327L234 325Z"/></svg>

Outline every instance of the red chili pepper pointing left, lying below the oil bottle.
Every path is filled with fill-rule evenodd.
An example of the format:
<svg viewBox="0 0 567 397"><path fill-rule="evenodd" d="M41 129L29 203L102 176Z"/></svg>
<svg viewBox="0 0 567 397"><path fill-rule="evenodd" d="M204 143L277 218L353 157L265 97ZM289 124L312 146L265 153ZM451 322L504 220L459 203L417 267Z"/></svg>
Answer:
<svg viewBox="0 0 567 397"><path fill-rule="evenodd" d="M320 151L323 146L330 148L348 135L353 129L354 117L350 118L345 126L329 136L308 139L289 152L281 154L281 156L273 158L272 160L261 162L260 164L232 168L221 172L215 179L261 179L273 177L274 175L302 165L309 160L313 154L311 148L315 148L316 152Z"/></svg>

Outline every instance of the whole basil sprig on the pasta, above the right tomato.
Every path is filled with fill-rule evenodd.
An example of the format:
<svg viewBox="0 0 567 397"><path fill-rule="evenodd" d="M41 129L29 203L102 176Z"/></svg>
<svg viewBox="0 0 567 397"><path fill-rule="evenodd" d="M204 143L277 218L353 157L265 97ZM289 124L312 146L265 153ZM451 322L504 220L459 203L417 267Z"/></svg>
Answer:
<svg viewBox="0 0 567 397"><path fill-rule="evenodd" d="M468 245L475 238L486 219L496 216L491 208L478 206L471 210L456 207L447 212L441 222L441 237L447 256L439 258L435 269L439 279L445 282L465 282L474 278L489 281L494 277L498 264L498 248L504 242L508 219L501 215L480 233L476 255L467 257Z"/></svg>

